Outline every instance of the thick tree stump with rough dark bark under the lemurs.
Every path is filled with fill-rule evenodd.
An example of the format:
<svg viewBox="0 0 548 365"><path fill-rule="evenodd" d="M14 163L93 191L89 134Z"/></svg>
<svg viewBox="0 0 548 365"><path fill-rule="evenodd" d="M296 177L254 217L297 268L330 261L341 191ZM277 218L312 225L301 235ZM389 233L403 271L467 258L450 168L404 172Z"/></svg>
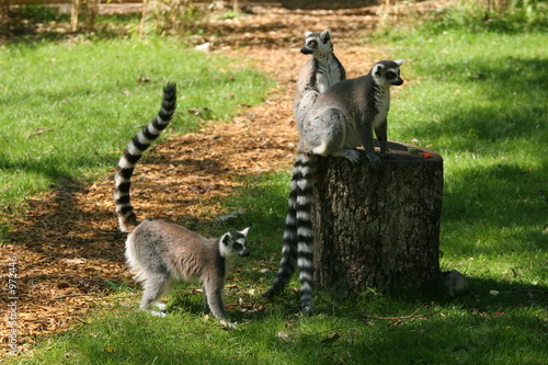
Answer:
<svg viewBox="0 0 548 365"><path fill-rule="evenodd" d="M443 159L389 142L393 159L318 157L315 284L338 295L378 290L427 295L439 277ZM415 149L416 151L413 151ZM411 150L411 153L408 150Z"/></svg>

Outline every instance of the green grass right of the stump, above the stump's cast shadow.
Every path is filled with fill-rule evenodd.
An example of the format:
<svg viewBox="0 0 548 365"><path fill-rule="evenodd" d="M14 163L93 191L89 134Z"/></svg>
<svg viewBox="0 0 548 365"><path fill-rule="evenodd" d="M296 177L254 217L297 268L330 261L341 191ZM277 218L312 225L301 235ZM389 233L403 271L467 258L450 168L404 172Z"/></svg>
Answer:
<svg viewBox="0 0 548 365"><path fill-rule="evenodd" d="M445 267L546 284L547 39L447 31L396 44L411 85L393 103L391 138L444 157Z"/></svg>

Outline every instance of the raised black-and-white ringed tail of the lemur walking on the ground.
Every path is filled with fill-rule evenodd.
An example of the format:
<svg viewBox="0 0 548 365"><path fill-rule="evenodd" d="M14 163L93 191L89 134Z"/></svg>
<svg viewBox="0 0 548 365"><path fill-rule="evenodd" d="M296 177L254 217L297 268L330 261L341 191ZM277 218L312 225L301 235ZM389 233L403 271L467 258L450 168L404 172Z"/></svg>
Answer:
<svg viewBox="0 0 548 365"><path fill-rule="evenodd" d="M119 158L114 176L114 198L116 202L116 214L118 215L119 230L130 232L137 226L137 216L132 206L129 189L132 186L132 174L137 161L142 152L150 147L150 144L160 136L168 126L175 112L176 84L168 83L163 88L162 107L156 118L147 124L129 141L124 155Z"/></svg>

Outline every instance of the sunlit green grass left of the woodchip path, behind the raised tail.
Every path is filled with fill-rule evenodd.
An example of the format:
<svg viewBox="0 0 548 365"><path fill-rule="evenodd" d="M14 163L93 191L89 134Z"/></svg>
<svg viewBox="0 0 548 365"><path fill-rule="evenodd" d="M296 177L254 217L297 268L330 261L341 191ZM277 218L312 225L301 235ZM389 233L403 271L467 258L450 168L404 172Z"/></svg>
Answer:
<svg viewBox="0 0 548 365"><path fill-rule="evenodd" d="M155 117L174 81L174 133L228 119L272 85L237 60L167 39L22 43L0 48L0 212L62 179L112 169L136 128ZM148 80L139 82L139 80ZM165 134L165 135L169 135ZM0 237L1 241L1 237Z"/></svg>

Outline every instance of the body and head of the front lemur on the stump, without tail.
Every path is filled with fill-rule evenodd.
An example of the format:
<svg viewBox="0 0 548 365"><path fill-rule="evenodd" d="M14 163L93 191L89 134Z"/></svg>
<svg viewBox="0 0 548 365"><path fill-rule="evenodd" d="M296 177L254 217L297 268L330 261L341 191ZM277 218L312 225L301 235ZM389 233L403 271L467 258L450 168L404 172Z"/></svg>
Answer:
<svg viewBox="0 0 548 365"><path fill-rule="evenodd" d="M378 168L380 159L375 155L373 129L380 144L380 155L387 156L390 87L403 83L399 76L401 64L403 60L377 62L368 75L341 81L321 93L304 124L305 150L358 162L355 147L364 146L367 158Z"/></svg>

